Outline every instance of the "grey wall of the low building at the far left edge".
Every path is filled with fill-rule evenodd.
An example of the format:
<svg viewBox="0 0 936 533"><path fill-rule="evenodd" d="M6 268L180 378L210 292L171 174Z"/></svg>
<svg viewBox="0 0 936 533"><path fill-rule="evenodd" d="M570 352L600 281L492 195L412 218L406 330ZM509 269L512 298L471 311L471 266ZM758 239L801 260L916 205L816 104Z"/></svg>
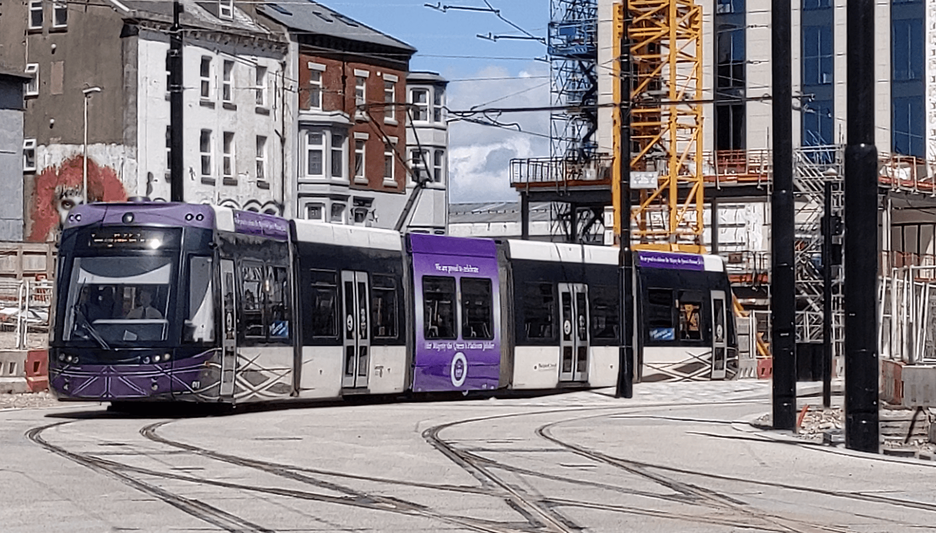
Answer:
<svg viewBox="0 0 936 533"><path fill-rule="evenodd" d="M0 108L0 124L0 191L8 199L0 202L0 240L22 240L22 110Z"/></svg>

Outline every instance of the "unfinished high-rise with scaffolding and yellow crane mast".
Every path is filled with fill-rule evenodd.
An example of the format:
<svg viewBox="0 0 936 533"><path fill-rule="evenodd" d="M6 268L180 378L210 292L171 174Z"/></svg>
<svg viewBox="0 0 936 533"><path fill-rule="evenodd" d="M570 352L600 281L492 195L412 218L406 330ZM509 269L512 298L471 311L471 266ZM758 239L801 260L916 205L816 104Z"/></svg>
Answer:
<svg viewBox="0 0 936 533"><path fill-rule="evenodd" d="M929 317L936 278L936 115L926 112L936 106L936 83L928 81L936 65L924 61L936 55L936 9L929 4L877 5L872 110L882 151L881 353L910 346L920 360L936 355L936 332L908 333ZM552 0L550 9L558 110L550 156L511 163L521 233L529 234L531 204L548 202L553 239L613 244L615 157L629 153L634 246L721 254L746 307L767 309L769 1ZM826 284L841 353L841 274L838 267L824 272L822 247L825 226L825 242L839 249L836 221L845 209L845 39L836 35L844 18L844 0L800 0L793 14L800 353L823 339ZM622 122L628 151L620 144ZM766 334L766 323L761 329Z"/></svg>

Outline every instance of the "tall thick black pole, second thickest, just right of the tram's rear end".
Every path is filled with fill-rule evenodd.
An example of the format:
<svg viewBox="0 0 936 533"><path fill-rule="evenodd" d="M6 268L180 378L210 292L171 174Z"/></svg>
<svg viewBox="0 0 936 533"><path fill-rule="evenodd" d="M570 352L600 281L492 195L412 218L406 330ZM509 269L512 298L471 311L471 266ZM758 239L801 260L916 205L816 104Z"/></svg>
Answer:
<svg viewBox="0 0 936 533"><path fill-rule="evenodd" d="M773 426L793 429L797 413L796 294L793 254L793 86L790 0L772 0L773 194L770 197L770 311L773 352Z"/></svg>

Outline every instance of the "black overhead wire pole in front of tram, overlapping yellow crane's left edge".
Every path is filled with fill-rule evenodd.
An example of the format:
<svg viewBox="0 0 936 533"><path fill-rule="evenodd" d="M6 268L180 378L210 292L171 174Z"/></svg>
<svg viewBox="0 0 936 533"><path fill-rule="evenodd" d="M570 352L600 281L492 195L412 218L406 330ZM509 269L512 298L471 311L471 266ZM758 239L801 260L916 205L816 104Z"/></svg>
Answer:
<svg viewBox="0 0 936 533"><path fill-rule="evenodd" d="M618 238L618 266L621 270L621 346L618 353L618 383L615 397L634 397L634 252L631 251L631 62L625 32L627 11L624 3L614 6L614 228Z"/></svg>

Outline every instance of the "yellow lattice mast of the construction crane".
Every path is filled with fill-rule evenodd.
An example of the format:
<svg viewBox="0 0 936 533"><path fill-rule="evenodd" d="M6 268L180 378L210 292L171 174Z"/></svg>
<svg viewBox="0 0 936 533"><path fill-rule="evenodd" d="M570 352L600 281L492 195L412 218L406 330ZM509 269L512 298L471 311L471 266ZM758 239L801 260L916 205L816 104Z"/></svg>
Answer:
<svg viewBox="0 0 936 533"><path fill-rule="evenodd" d="M613 18L615 79L626 76L624 86L630 87L628 109L621 84L613 84L615 236L620 242L618 177L621 154L629 152L632 189L642 182L640 203L630 213L633 248L703 253L702 7L693 0L625 3L615 4ZM622 50L625 32L629 50ZM621 70L622 53L629 72ZM623 121L631 128L627 151L621 146Z"/></svg>

